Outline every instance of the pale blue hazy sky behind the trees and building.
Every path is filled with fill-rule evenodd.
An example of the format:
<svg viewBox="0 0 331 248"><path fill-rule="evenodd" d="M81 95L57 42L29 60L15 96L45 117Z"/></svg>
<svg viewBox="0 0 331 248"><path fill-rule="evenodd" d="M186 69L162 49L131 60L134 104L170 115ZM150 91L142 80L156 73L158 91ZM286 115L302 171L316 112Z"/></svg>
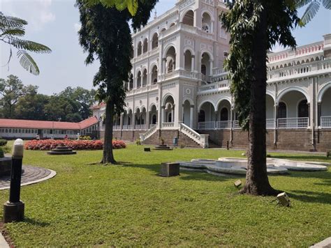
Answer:
<svg viewBox="0 0 331 248"><path fill-rule="evenodd" d="M157 15L175 6L176 1L160 0L156 5ZM9 47L0 42L0 78L16 75L24 84L37 85L39 93L48 95L59 93L67 86L91 88L98 63L84 64L86 54L78 42L80 22L74 4L75 0L0 0L0 11L4 15L27 20L25 39L40 42L52 49L51 54L30 53L41 71L40 75L35 76L20 66L15 50L9 66L6 65ZM300 15L303 11L299 11ZM322 36L326 33L331 33L331 11L324 8L306 27L293 31L297 45L323 40ZM274 52L281 49L276 46Z"/></svg>

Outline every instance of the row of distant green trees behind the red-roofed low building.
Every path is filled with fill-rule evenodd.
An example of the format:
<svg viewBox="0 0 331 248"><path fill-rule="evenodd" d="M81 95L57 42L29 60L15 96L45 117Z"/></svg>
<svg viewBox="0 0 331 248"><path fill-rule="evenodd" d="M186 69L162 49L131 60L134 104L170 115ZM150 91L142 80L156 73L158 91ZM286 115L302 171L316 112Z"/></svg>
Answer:
<svg viewBox="0 0 331 248"><path fill-rule="evenodd" d="M79 122L91 116L96 92L67 87L53 95L38 93L38 86L24 86L9 75L0 79L0 118Z"/></svg>

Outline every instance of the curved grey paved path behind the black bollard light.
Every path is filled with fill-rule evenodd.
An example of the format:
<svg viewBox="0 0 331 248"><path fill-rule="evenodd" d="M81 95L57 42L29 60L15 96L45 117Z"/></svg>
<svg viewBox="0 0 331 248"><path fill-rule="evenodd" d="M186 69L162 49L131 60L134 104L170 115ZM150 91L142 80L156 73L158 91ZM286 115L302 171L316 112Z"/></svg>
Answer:
<svg viewBox="0 0 331 248"><path fill-rule="evenodd" d="M23 165L21 185L31 185L39 183L43 180L54 177L57 173L50 169ZM0 189L8 189L10 186L10 176L3 176L0 178Z"/></svg>

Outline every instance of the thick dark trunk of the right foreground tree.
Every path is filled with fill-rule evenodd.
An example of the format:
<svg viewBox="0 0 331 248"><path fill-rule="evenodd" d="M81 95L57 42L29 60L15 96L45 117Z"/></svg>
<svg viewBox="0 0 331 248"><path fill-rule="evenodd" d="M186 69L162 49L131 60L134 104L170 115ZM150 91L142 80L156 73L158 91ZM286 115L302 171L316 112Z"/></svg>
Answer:
<svg viewBox="0 0 331 248"><path fill-rule="evenodd" d="M241 192L253 195L275 195L267 178L267 149L265 127L265 94L267 88L267 26L266 10L261 13L258 32L253 38L253 79L251 82L251 109L249 112L249 149L246 184Z"/></svg>

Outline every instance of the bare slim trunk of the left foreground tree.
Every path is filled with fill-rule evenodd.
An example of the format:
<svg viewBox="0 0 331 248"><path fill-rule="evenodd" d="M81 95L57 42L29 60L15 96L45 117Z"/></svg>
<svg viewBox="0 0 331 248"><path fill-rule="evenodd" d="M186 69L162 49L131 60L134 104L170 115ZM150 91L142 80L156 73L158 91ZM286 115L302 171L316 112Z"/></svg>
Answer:
<svg viewBox="0 0 331 248"><path fill-rule="evenodd" d="M112 154L112 117L114 115L114 104L108 101L105 106L105 137L103 141L103 159L102 164L116 164Z"/></svg>

